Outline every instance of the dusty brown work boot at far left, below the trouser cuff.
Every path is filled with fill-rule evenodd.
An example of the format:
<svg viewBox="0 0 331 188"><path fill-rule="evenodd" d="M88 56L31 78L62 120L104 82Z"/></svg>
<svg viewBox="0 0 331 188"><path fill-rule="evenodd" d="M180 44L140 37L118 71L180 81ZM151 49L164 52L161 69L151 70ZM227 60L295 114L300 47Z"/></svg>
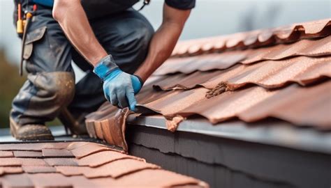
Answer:
<svg viewBox="0 0 331 188"><path fill-rule="evenodd" d="M13 120L10 120L10 133L17 140L36 141L36 140L54 140L50 129L42 124L27 124L19 125Z"/></svg>

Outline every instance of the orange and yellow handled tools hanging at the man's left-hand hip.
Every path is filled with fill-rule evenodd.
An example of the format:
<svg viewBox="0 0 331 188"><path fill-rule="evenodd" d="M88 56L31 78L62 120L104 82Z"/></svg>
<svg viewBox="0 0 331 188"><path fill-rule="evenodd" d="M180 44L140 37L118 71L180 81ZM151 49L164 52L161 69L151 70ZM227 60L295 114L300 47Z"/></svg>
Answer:
<svg viewBox="0 0 331 188"><path fill-rule="evenodd" d="M29 1L27 2L27 5ZM27 38L27 30L29 29L29 24L31 22L31 18L34 16L37 10L37 5L34 4L32 10L29 10L28 6L26 6L24 10L24 15L22 16L22 1L19 1L17 4L17 22L16 22L16 31L17 34L22 35L22 48L21 48L21 59L20 59L20 76L23 75L23 54L24 54L24 43Z"/></svg>

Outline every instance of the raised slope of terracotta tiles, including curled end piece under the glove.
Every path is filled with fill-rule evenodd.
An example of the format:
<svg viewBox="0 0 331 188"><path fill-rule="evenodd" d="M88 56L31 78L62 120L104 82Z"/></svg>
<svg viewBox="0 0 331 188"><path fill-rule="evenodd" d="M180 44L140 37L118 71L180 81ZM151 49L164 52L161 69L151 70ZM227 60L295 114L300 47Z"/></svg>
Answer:
<svg viewBox="0 0 331 188"><path fill-rule="evenodd" d="M171 131L196 115L211 123L278 118L331 130L330 19L266 31L179 42L177 57L156 70L136 95L138 112L160 113ZM284 42L293 43L280 44ZM260 48L214 51L240 46ZM182 56L191 53L196 56ZM126 116L127 110L105 102L87 116L87 128L91 136L108 143L125 143ZM117 132L122 134L109 134L116 132L110 127L121 127Z"/></svg>

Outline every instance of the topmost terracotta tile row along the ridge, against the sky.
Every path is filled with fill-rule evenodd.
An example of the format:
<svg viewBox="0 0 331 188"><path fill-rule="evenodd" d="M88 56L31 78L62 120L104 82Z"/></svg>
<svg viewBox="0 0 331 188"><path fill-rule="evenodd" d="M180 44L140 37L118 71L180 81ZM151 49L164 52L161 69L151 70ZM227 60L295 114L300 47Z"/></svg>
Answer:
<svg viewBox="0 0 331 188"><path fill-rule="evenodd" d="M303 38L320 38L330 33L330 19L292 24L275 29L235 33L230 36L217 36L178 42L172 56L192 56L226 49L263 47Z"/></svg>

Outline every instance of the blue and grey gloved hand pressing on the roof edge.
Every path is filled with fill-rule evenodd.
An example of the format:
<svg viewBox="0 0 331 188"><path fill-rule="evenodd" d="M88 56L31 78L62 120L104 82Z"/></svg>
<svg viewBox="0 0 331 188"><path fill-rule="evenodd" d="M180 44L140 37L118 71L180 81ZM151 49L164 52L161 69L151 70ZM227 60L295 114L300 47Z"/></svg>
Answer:
<svg viewBox="0 0 331 188"><path fill-rule="evenodd" d="M119 108L130 107L135 111L135 94L142 87L142 80L118 68L111 55L101 59L93 72L103 80L105 98Z"/></svg>

